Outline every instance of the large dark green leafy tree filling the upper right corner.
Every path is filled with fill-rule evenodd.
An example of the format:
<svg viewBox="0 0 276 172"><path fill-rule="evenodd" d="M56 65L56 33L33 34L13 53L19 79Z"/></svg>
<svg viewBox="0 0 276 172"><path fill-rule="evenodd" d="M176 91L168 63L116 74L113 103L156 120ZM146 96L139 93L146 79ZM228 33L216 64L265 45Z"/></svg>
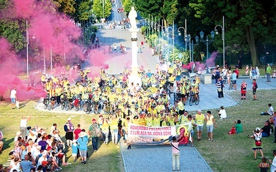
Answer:
<svg viewBox="0 0 276 172"><path fill-rule="evenodd" d="M256 44L273 43L271 37L275 39L275 34L270 32L275 33L273 4L272 0L192 0L189 6L195 10L195 17L201 19L202 23L208 26L207 28L221 23L221 17L225 15L227 53L250 52L253 66L256 66L259 65ZM221 43L214 45L221 46Z"/></svg>

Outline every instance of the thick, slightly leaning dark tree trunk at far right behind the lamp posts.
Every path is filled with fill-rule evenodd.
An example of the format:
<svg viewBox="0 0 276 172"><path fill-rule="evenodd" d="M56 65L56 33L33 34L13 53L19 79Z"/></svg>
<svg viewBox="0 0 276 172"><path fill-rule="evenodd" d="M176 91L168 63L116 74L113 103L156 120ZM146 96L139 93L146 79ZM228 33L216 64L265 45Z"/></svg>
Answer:
<svg viewBox="0 0 276 172"><path fill-rule="evenodd" d="M249 45L249 49L251 52L251 61L253 63L253 66L255 67L255 66L259 65L259 58L257 57L255 39L254 39L254 34L253 34L251 25L246 26L246 40L247 40L247 43Z"/></svg>

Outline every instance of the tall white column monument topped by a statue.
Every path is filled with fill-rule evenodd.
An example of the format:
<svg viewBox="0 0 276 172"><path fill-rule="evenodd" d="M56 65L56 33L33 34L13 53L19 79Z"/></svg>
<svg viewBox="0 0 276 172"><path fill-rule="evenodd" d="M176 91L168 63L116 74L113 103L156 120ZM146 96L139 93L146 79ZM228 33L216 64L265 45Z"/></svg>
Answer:
<svg viewBox="0 0 276 172"><path fill-rule="evenodd" d="M134 86L139 83L141 87L141 78L138 76L138 62L137 62L137 32L139 29L136 25L137 12L134 7L131 7L130 13L128 14L128 19L130 20L130 32L131 32L131 55L132 55L132 65L131 65L131 74L128 76L128 86L133 83Z"/></svg>

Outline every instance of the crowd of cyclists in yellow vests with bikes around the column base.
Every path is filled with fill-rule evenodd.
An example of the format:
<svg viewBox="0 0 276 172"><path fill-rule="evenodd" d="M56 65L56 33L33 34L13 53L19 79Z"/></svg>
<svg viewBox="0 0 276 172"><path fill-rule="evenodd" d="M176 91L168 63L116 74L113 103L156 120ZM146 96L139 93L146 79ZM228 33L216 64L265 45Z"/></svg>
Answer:
<svg viewBox="0 0 276 172"><path fill-rule="evenodd" d="M154 74L142 67L138 70L141 77L141 85L128 83L130 70L125 69L119 76L108 75L101 69L99 76L90 78L90 69L81 69L79 80L73 85L68 78L47 77L42 74L43 83L47 92L47 97L43 103L45 108L53 109L61 105L61 109L66 111L75 109L83 110L87 114L115 114L117 111L123 112L124 116L144 111L152 115L160 114L161 110L168 113L170 109L184 110L186 100L192 94L195 100L199 99L200 79L195 76L195 80L190 80L185 75L179 63L172 62L164 69L164 63L159 63L157 72ZM167 68L167 69L166 69ZM170 101L170 95L175 93L175 101ZM179 105L181 102L183 105ZM181 107L181 108L179 108ZM156 111L152 111L152 108Z"/></svg>

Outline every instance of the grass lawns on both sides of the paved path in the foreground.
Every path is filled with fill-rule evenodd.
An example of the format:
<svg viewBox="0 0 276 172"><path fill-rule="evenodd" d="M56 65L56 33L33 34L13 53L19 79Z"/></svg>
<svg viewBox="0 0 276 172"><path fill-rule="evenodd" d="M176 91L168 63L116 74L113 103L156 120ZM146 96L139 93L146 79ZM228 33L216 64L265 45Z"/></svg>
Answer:
<svg viewBox="0 0 276 172"><path fill-rule="evenodd" d="M259 171L257 165L261 162L261 155L257 153L257 160L253 159L252 145L253 139L247 137L256 127L263 127L264 122L270 116L260 116L261 111L267 111L268 103L275 103L276 89L258 90L258 100L253 101L253 95L248 92L247 100L239 100L239 92L229 92L235 100L239 102L234 107L226 108L228 118L219 120L216 110L212 109L217 122L217 128L214 129L214 141L207 139L206 128L204 128L203 137L200 142L195 141L195 147L210 165L213 171ZM1 102L0 106L0 130L4 135L3 153L0 155L0 163L5 164L8 160L8 153L13 149L13 138L15 133L19 131L20 118L23 115L30 116L32 119L28 121L28 125L34 127L38 125L41 128L50 130L52 123L57 123L57 128L64 136L63 125L67 118L72 118L72 123L77 126L81 124L81 128L88 130L94 115L68 115L53 114L50 112L41 112L34 109L36 102L30 100L26 102L26 107L19 110L10 109L10 105ZM195 114L195 112L191 112ZM203 111L206 114L206 111ZM242 120L244 133L228 135L228 131L235 120ZM196 136L195 136L196 138ZM195 139L196 140L196 139ZM276 149L276 144L272 144L274 137L263 138L264 155L270 159L273 158L272 151ZM109 144L101 145L99 151L92 152L91 142L89 143L89 160L88 164L81 164L80 161L72 162L70 149L66 155L67 161L72 163L63 167L63 171L124 171L124 164L121 158L119 146Z"/></svg>

